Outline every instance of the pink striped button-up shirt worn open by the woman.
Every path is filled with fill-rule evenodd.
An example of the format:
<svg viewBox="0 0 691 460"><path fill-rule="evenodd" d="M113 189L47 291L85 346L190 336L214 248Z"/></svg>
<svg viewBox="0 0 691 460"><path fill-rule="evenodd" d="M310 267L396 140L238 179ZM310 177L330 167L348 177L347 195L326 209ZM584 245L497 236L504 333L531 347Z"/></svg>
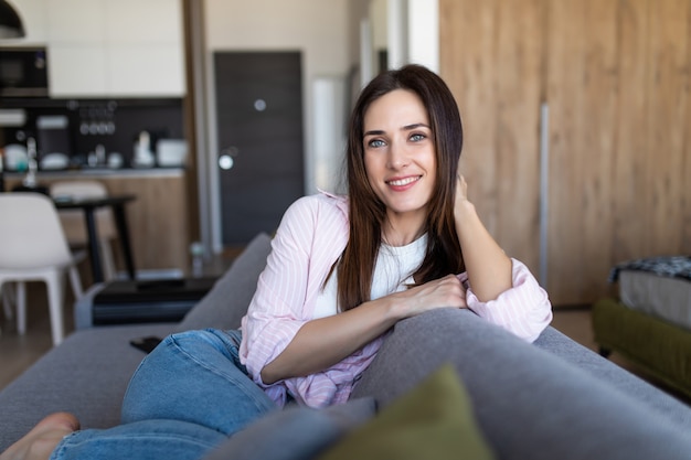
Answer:
<svg viewBox="0 0 691 460"><path fill-rule="evenodd" d="M288 346L298 330L312 319L316 300L333 263L346 248L348 201L319 194L295 202L272 242L272 254L257 290L242 320L240 357L249 375L279 406L290 394L299 403L325 407L348 400L354 382L372 362L384 336L340 363L305 377L272 385L259 373ZM468 287L468 308L488 321L532 342L552 321L546 292L522 263L513 261L513 287L496 300L480 302ZM467 281L466 274L459 275Z"/></svg>

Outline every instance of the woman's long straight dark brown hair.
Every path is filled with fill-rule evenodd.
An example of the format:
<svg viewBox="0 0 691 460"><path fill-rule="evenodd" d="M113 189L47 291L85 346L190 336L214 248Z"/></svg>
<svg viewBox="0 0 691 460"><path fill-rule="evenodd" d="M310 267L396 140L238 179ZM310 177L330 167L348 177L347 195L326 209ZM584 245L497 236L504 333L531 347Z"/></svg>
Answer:
<svg viewBox="0 0 691 460"><path fill-rule="evenodd" d="M374 264L381 246L386 206L368 181L364 168L364 115L375 99L394 90L415 93L427 109L437 159L436 190L426 220L427 250L414 274L417 285L465 270L454 222L463 126L456 100L444 81L421 65L376 76L360 93L349 127L347 163L350 237L338 261L338 300L342 311L370 300Z"/></svg>

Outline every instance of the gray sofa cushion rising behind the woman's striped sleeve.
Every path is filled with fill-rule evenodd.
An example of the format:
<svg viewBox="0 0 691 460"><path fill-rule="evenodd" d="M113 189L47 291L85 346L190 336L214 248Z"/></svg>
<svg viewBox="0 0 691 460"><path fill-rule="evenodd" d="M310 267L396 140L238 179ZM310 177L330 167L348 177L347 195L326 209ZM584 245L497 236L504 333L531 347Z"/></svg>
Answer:
<svg viewBox="0 0 691 460"><path fill-rule="evenodd" d="M240 328L270 250L272 239L267 234L255 236L209 293L188 312L177 330Z"/></svg>

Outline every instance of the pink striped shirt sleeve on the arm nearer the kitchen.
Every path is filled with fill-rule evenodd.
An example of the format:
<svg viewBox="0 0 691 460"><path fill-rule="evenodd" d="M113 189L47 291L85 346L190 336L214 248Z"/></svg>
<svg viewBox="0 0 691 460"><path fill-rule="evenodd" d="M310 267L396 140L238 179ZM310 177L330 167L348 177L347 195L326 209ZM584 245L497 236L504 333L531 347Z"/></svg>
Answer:
<svg viewBox="0 0 691 460"><path fill-rule="evenodd" d="M287 391L298 399L310 393L317 399L329 399L326 393L333 396L337 391L326 375L279 381L273 385L265 385L261 378L262 370L311 320L315 298L347 240L347 221L342 215L339 218L337 213L341 211L328 200L302 197L286 211L255 296L242 320L241 362L279 405L285 403ZM328 238L328 243L319 238Z"/></svg>

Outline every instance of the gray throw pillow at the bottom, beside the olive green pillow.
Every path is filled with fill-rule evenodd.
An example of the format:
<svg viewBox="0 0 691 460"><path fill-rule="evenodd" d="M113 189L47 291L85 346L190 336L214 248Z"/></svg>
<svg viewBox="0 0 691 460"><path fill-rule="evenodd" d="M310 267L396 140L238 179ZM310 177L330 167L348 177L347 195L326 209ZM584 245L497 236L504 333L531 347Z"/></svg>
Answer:
<svg viewBox="0 0 691 460"><path fill-rule="evenodd" d="M305 460L374 417L373 398L325 409L291 406L276 410L228 438L203 460Z"/></svg>

